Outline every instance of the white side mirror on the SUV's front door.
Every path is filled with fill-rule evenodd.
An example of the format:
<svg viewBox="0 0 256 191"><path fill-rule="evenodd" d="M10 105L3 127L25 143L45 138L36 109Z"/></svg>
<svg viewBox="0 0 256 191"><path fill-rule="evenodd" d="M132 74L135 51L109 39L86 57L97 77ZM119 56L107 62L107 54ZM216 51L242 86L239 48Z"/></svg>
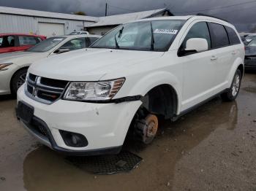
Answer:
<svg viewBox="0 0 256 191"><path fill-rule="evenodd" d="M192 38L188 39L185 51L203 52L208 50L208 42L206 39Z"/></svg>

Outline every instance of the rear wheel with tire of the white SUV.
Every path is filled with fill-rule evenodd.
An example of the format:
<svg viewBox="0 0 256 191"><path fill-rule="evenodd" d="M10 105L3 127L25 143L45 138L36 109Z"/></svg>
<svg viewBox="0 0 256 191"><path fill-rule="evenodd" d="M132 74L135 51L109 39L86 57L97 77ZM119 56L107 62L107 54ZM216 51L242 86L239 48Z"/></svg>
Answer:
<svg viewBox="0 0 256 191"><path fill-rule="evenodd" d="M240 91L240 87L241 87L241 79L242 79L241 71L237 70L233 77L233 81L230 88L227 90L227 92L222 93L220 95L223 101L234 101L237 98L238 93Z"/></svg>

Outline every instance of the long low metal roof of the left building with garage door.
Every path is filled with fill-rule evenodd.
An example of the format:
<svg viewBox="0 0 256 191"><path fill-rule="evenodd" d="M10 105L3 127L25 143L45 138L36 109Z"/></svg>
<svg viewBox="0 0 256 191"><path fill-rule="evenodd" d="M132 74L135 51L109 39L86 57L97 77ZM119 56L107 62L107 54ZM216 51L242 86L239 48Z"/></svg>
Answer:
<svg viewBox="0 0 256 191"><path fill-rule="evenodd" d="M31 9L18 9L12 7L0 7L0 13L11 14L11 15L26 15L31 17L48 17L48 18L60 18L67 20L83 20L83 21L94 21L97 22L99 17L83 16L83 15L71 15L59 12L45 12Z"/></svg>

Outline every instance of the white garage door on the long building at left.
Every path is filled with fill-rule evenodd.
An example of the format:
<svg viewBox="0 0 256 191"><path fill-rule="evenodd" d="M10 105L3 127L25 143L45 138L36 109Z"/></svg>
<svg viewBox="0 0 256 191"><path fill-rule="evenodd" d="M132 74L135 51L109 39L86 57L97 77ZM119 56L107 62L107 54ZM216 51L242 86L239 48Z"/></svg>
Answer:
<svg viewBox="0 0 256 191"><path fill-rule="evenodd" d="M38 23L39 34L50 36L64 35L64 24L59 23Z"/></svg>

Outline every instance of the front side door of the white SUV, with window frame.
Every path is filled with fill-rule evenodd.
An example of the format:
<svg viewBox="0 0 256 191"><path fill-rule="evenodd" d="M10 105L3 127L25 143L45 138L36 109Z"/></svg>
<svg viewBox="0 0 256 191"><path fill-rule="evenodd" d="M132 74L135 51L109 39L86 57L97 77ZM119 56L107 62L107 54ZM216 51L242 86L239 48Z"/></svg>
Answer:
<svg viewBox="0 0 256 191"><path fill-rule="evenodd" d="M211 37L208 25L203 21L192 23L185 36L180 50L186 48L186 42L191 38L202 38L208 42L208 50L181 56L183 64L184 85L182 110L189 109L214 94L216 82L216 61L211 51Z"/></svg>

